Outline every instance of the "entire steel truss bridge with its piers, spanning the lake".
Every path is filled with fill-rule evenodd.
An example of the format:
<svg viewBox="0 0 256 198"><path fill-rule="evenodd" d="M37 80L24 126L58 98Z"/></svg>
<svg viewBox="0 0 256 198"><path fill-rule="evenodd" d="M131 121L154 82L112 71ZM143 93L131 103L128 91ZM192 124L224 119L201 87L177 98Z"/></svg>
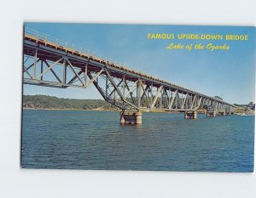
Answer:
<svg viewBox="0 0 256 198"><path fill-rule="evenodd" d="M100 59L67 42L25 29L23 82L54 88L94 85L121 109L121 123L142 123L142 111L184 112L185 118L230 115L235 105Z"/></svg>

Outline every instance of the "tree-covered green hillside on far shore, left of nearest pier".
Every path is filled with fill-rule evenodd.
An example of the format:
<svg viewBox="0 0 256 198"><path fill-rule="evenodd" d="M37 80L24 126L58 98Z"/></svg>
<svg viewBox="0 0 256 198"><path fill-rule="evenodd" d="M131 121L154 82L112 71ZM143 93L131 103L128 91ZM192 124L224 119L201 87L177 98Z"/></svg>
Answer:
<svg viewBox="0 0 256 198"><path fill-rule="evenodd" d="M103 99L60 99L47 95L24 95L23 108L32 109L77 109L93 110L115 110L113 105Z"/></svg>

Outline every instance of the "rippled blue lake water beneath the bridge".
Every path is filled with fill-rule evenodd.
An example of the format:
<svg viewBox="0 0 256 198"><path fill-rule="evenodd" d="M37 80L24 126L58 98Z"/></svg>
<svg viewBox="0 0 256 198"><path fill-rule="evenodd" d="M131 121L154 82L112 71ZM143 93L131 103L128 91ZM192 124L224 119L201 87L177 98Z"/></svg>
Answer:
<svg viewBox="0 0 256 198"><path fill-rule="evenodd" d="M97 170L253 172L254 116L23 110L21 166Z"/></svg>

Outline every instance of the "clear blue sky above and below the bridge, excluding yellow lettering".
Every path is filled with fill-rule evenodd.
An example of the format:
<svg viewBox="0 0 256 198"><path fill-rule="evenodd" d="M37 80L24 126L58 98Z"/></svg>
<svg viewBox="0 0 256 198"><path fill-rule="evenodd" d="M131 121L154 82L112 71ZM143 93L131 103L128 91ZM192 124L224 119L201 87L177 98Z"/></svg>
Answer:
<svg viewBox="0 0 256 198"><path fill-rule="evenodd" d="M55 23L26 23L25 26L184 88L209 96L218 95L230 103L247 104L255 101L255 27ZM248 41L149 40L148 33L247 34ZM171 42L182 42L184 45L227 43L230 50L167 50L166 46ZM102 99L93 86L88 89L60 89L25 85L24 94Z"/></svg>

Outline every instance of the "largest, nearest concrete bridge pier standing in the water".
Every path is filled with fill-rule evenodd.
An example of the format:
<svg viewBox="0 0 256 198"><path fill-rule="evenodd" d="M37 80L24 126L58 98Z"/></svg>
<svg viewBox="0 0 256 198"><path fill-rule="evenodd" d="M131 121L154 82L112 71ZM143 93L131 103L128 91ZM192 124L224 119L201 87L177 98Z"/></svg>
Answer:
<svg viewBox="0 0 256 198"><path fill-rule="evenodd" d="M143 113L141 111L123 110L120 114L120 124L142 124Z"/></svg>

